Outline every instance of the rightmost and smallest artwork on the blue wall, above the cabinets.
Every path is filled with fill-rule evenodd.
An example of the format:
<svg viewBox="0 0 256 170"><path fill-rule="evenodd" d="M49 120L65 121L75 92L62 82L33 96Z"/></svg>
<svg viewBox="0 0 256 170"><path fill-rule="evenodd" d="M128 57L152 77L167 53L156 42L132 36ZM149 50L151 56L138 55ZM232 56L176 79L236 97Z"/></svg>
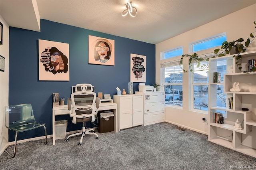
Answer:
<svg viewBox="0 0 256 170"><path fill-rule="evenodd" d="M131 54L130 82L146 83L146 56Z"/></svg>

